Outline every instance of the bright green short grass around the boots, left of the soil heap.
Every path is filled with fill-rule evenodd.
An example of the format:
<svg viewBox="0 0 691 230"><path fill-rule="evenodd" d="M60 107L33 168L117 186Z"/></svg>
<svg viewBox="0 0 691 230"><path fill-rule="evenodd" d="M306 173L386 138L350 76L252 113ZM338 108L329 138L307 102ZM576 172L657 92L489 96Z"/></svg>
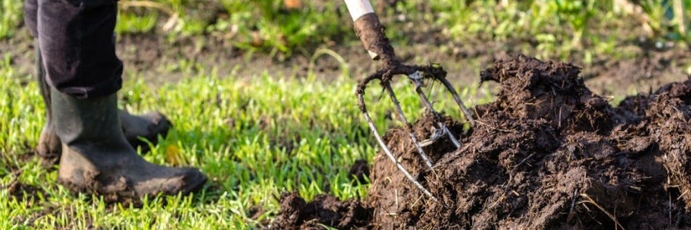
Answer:
<svg viewBox="0 0 691 230"><path fill-rule="evenodd" d="M120 106L135 113L158 109L175 125L146 160L200 167L211 180L197 194L151 198L133 208L70 194L57 183L57 171L41 166L32 146L45 108L36 82L19 75L11 61L0 61L0 229L254 229L275 217L282 191L299 191L307 199L367 195L368 186L353 185L348 170L355 160L372 162L377 148L348 75L332 82L268 74L243 79L189 65L180 70L182 82L151 87L138 73L128 73ZM378 99L377 88L367 90L369 108L385 131L397 122L384 116L392 106ZM396 88L408 118L422 114L410 86ZM464 98L475 94L462 92ZM36 195L9 194L6 186L15 181ZM252 219L256 210L261 215Z"/></svg>

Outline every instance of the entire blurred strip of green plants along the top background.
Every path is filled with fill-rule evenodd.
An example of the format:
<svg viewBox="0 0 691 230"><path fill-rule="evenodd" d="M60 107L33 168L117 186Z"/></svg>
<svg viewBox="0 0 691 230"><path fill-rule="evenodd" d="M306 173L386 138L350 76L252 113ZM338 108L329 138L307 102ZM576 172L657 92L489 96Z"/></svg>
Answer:
<svg viewBox="0 0 691 230"><path fill-rule="evenodd" d="M0 0L0 39L22 26L17 0ZM155 34L169 41L203 36L227 40L241 50L281 54L314 50L354 39L342 1L122 0L116 31ZM623 43L689 48L691 0L603 1L372 1L392 41L434 32L442 40L515 41L545 58L567 59L574 51L620 55ZM444 43L446 44L446 43ZM669 46L669 45L668 45ZM582 53L582 52L578 52ZM621 53L626 55L626 53Z"/></svg>

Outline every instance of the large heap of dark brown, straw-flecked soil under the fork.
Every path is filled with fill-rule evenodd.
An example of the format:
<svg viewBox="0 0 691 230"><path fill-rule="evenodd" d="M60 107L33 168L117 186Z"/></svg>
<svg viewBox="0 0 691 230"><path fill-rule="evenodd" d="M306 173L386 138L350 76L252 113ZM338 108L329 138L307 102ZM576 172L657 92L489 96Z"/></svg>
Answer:
<svg viewBox="0 0 691 230"><path fill-rule="evenodd" d="M368 222L370 229L690 228L691 79L613 107L579 75L580 68L571 64L531 57L496 62L481 77L500 84L498 99L473 109L477 123L466 133L446 119L462 147L454 149L446 140L426 147L434 171L404 129L389 131L385 140L392 152L439 202L379 154L364 201L372 219L359 224ZM426 139L435 123L424 118L413 130ZM302 209L291 199L282 199L277 222ZM290 226L305 222L345 227L328 218Z"/></svg>

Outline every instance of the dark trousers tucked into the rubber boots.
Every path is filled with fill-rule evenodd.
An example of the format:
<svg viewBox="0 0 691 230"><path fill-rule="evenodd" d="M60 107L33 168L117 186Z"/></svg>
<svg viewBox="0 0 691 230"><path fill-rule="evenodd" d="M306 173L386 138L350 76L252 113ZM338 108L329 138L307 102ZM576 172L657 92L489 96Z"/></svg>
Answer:
<svg viewBox="0 0 691 230"><path fill-rule="evenodd" d="M25 0L24 21L38 39L48 84L79 98L120 90L116 19L117 0Z"/></svg>

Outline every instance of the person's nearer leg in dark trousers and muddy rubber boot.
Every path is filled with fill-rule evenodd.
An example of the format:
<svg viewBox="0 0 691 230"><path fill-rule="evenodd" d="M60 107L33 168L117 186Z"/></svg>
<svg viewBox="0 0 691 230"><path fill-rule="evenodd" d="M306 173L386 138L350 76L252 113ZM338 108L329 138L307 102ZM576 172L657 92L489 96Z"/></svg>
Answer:
<svg viewBox="0 0 691 230"><path fill-rule="evenodd" d="M204 184L196 169L146 162L122 133L115 94L122 63L112 36L116 1L38 3L37 35L51 86L52 121L62 142L59 182L72 191L118 199L188 193Z"/></svg>

